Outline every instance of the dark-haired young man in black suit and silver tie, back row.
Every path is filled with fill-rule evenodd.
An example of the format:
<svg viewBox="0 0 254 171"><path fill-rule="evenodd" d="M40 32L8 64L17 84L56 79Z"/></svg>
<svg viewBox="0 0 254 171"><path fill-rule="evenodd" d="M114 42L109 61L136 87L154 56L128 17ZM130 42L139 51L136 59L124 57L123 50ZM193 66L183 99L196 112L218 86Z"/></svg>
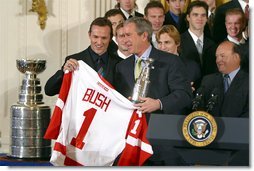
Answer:
<svg viewBox="0 0 254 171"><path fill-rule="evenodd" d="M202 1L193 1L187 9L189 29L181 34L181 53L195 61L201 69L202 77L216 72L216 44L206 37L204 27L207 22L208 5ZM198 87L198 85L196 85Z"/></svg>

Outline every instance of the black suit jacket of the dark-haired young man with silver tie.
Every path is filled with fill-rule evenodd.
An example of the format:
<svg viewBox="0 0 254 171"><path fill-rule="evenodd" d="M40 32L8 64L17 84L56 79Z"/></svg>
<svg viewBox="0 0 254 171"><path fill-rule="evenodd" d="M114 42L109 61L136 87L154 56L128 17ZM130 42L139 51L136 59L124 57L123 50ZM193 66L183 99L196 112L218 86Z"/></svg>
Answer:
<svg viewBox="0 0 254 171"><path fill-rule="evenodd" d="M217 71L215 58L215 51L217 46L212 40L204 36L203 52L202 52L203 64L201 64L195 42L192 39L188 30L183 34L181 34L180 46L181 46L181 54L184 58L189 58L198 63L198 65L201 68L202 76Z"/></svg>

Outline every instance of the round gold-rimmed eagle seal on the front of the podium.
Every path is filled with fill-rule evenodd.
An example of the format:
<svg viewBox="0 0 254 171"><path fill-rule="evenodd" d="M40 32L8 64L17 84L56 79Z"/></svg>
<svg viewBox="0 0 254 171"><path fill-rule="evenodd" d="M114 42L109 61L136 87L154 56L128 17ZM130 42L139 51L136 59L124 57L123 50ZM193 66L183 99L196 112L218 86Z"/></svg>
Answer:
<svg viewBox="0 0 254 171"><path fill-rule="evenodd" d="M204 147L214 141L217 135L217 124L209 113L195 111L184 119L182 132L191 145Z"/></svg>

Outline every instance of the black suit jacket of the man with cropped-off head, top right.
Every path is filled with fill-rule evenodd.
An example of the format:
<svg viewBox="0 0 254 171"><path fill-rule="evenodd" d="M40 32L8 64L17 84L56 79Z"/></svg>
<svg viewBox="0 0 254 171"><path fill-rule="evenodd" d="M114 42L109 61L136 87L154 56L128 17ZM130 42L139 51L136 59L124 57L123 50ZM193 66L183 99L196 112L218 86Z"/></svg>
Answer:
<svg viewBox="0 0 254 171"><path fill-rule="evenodd" d="M222 42L227 37L227 30L225 26L225 14L228 9L241 8L238 0L231 0L216 8L214 25L213 25L213 40L216 43Z"/></svg>

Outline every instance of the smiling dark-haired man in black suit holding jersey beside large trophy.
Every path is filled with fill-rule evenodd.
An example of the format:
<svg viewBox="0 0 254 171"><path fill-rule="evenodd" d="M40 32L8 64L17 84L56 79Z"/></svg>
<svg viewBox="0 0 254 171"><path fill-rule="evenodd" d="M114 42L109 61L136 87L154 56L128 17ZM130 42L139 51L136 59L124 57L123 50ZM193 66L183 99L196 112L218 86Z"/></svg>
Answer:
<svg viewBox="0 0 254 171"><path fill-rule="evenodd" d="M44 88L46 95L54 96L59 93L64 72L78 69L78 60L83 60L108 82L113 83L115 65L121 58L108 51L113 36L110 21L102 17L96 18L91 23L88 34L91 45L86 50L65 58L62 68L47 81Z"/></svg>

